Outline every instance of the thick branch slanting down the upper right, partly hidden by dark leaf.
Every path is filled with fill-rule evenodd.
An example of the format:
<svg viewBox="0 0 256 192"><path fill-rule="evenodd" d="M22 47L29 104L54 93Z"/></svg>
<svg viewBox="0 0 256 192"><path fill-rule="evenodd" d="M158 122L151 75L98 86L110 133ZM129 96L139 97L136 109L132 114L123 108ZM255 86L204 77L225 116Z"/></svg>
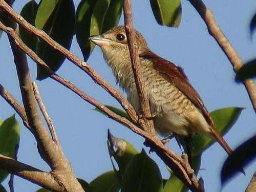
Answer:
<svg viewBox="0 0 256 192"><path fill-rule="evenodd" d="M243 61L239 57L236 50L234 50L234 48L232 47L224 33L221 31L220 27L216 23L216 20L211 10L209 10L204 5L202 0L189 0L189 2L198 11L200 16L204 20L205 24L207 25L210 35L212 35L215 38L220 48L228 57L229 61L233 66L234 72L238 72L238 70L243 66ZM254 111L256 112L256 84L253 79L247 79L243 83L250 97Z"/></svg>

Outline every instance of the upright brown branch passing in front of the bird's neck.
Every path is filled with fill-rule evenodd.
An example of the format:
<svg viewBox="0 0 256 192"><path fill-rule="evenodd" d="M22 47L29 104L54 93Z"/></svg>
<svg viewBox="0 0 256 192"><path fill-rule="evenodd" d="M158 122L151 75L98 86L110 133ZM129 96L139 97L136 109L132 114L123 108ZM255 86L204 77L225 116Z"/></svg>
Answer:
<svg viewBox="0 0 256 192"><path fill-rule="evenodd" d="M136 83L137 93L140 100L140 109L141 109L142 120L143 120L143 121L140 121L139 123L142 129L144 129L148 133L151 133L152 135L156 135L153 120L149 120L152 117L152 114L151 114L150 103L148 101L148 96L145 88L144 77L142 75L141 66L140 66L137 42L135 39L135 31L133 27L132 3L130 0L123 1L123 12L124 12L125 31L127 35L133 74L134 74L134 79Z"/></svg>

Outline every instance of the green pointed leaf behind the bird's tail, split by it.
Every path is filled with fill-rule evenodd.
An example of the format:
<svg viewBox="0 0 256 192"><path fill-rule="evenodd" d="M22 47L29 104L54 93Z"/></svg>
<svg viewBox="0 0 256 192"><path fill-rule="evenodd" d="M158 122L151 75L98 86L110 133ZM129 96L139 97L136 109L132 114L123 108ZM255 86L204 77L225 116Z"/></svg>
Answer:
<svg viewBox="0 0 256 192"><path fill-rule="evenodd" d="M212 111L210 116L214 120L216 129L221 135L226 134L233 124L238 120L242 110L244 108L228 107ZM194 149L192 151L193 156L200 155L215 141L203 134L193 134Z"/></svg>

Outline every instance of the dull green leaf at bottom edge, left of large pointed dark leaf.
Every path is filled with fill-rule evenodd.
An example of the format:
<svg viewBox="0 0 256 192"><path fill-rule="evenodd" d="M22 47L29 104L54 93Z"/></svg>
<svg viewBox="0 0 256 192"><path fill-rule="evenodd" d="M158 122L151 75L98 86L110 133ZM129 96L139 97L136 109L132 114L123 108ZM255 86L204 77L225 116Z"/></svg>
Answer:
<svg viewBox="0 0 256 192"><path fill-rule="evenodd" d="M120 186L118 183L117 176L114 170L105 172L94 179L89 188L86 190L88 192L118 192Z"/></svg>

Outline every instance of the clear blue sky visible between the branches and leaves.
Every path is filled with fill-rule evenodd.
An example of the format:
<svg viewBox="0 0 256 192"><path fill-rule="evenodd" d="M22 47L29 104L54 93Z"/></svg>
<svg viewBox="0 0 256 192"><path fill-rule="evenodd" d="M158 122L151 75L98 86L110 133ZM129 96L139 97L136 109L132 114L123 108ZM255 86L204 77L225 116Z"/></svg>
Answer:
<svg viewBox="0 0 256 192"><path fill-rule="evenodd" d="M27 1L19 0L14 9L20 9ZM78 4L78 1L75 1ZM243 61L256 56L256 35L251 41L249 22L256 11L254 0L226 0L205 1L215 15L215 18L237 50ZM234 82L234 72L227 57L218 47L217 42L207 31L207 28L188 1L182 1L182 20L180 27L167 28L159 26L151 12L149 1L133 1L133 19L135 28L146 38L149 47L159 56L166 58L181 66L187 74L191 84L197 89L208 111L227 106L245 107L238 122L224 137L231 148L236 148L243 141L254 135L255 113L252 110L248 95L242 84ZM120 25L123 24L121 18ZM21 101L13 57L5 34L0 39L1 70L0 82L11 92L19 102ZM71 51L82 58L82 54L73 39ZM110 68L105 64L101 51L95 48L88 63L119 89ZM35 80L35 63L30 60L32 80ZM120 107L117 101L97 86L90 77L75 67L71 62L65 61L57 74L71 80L81 90L95 97L104 104ZM107 129L114 136L131 142L138 151L141 151L144 139L132 133L126 127L104 117L87 102L84 102L67 88L52 79L36 81L58 134L60 144L65 155L70 160L75 175L88 182L98 175L112 169L112 164L106 146ZM14 110L0 98L0 117L5 119L14 113ZM21 140L18 160L39 169L49 171L50 168L37 154L36 143L31 133L23 126L20 118L16 116L21 126ZM180 153L176 142L167 144L172 150ZM145 148L145 147L144 147ZM148 148L146 148L148 152ZM150 154L159 165L163 178L168 178L165 165L154 154ZM202 156L202 176L207 191L220 190L220 169L227 157L226 152L219 144L211 146ZM239 175L229 182L223 191L244 191L252 174L256 169L253 163L245 169L246 177ZM8 179L4 186L8 188ZM15 177L16 191L35 191L39 187L24 179Z"/></svg>

